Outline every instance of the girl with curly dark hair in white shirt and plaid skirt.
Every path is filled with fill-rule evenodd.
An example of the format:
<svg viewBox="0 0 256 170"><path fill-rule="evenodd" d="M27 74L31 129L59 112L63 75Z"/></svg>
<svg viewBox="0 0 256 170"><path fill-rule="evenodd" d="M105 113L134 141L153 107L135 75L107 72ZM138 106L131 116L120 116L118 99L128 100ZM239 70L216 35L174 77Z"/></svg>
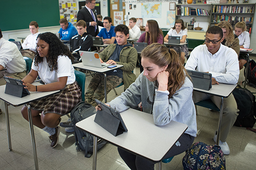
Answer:
<svg viewBox="0 0 256 170"><path fill-rule="evenodd" d="M39 34L36 40L36 55L31 71L23 79L29 91L53 91L59 93L31 102L33 124L50 134L51 147L56 147L60 127L60 117L69 113L81 101L81 90L75 81L74 57L53 33ZM44 85L31 83L39 76ZM40 114L41 113L41 114ZM22 108L23 117L28 120L28 110Z"/></svg>

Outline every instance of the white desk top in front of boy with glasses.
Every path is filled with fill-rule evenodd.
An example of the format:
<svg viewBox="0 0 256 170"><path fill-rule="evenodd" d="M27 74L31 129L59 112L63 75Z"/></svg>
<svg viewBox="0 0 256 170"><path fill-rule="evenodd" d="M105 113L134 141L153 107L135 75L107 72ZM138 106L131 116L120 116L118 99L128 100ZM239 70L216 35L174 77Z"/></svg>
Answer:
<svg viewBox="0 0 256 170"><path fill-rule="evenodd" d="M216 96L220 96L223 98L227 98L229 94L234 90L234 88L237 87L237 84L215 84L212 85L210 90L203 90L199 88L194 88L195 91L207 93L207 94L212 94Z"/></svg>

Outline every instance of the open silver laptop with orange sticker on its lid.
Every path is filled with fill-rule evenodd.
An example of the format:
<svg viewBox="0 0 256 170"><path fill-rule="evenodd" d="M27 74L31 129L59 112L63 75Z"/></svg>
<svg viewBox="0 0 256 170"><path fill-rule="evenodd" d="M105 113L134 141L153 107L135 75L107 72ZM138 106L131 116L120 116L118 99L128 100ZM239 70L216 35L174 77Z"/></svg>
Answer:
<svg viewBox="0 0 256 170"><path fill-rule="evenodd" d="M93 52L79 51L82 64L92 67L103 68L111 64L100 63L99 54Z"/></svg>

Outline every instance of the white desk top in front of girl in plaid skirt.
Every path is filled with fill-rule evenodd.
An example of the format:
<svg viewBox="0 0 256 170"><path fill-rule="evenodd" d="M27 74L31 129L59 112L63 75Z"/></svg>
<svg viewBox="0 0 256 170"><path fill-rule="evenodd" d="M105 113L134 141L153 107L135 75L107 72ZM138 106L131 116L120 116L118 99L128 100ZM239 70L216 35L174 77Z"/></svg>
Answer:
<svg viewBox="0 0 256 170"><path fill-rule="evenodd" d="M42 85L42 84L34 82L33 85ZM43 98L45 96L48 96L48 95L51 95L51 94L54 94L54 93L57 93L60 91L60 90L47 91L47 92L30 91L30 95L24 96L23 98L18 98L14 95L6 94L5 86L6 85L0 86L0 94L1 94L0 99L2 99L3 101L5 101L13 106L24 105L26 103L32 102L34 100Z"/></svg>

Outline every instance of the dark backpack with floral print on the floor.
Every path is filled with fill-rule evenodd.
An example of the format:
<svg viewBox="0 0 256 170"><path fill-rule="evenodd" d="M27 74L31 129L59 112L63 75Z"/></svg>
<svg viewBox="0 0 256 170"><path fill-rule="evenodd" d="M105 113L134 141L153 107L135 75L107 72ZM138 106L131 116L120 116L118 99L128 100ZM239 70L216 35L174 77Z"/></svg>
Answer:
<svg viewBox="0 0 256 170"><path fill-rule="evenodd" d="M187 150L182 160L186 169L226 169L226 161L221 147L196 142Z"/></svg>

